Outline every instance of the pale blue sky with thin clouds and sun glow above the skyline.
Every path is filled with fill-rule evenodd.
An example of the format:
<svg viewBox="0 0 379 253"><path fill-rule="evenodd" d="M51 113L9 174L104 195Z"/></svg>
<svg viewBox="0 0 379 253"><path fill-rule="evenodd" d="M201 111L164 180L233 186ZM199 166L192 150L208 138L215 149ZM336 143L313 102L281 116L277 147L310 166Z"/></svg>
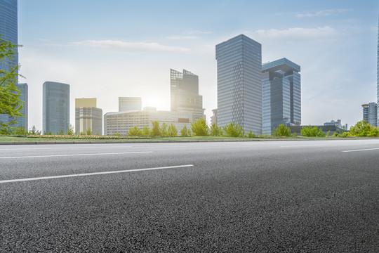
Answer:
<svg viewBox="0 0 379 253"><path fill-rule="evenodd" d="M362 119L376 101L379 1L19 0L20 74L29 128L42 129L42 85L70 85L117 112L119 96L170 110L170 69L199 76L207 121L217 108L215 45L239 34L262 44L262 63L301 66L302 124Z"/></svg>

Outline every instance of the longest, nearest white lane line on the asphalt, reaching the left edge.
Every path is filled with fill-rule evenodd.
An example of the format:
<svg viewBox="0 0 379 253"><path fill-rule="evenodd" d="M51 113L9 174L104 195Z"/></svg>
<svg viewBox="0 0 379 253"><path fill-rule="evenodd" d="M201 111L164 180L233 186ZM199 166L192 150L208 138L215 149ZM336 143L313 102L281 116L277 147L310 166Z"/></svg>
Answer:
<svg viewBox="0 0 379 253"><path fill-rule="evenodd" d="M93 172L93 173L83 173L83 174L70 174L70 175L60 175L60 176L41 176L38 178L29 178L29 179L10 179L3 180L0 183L13 183L13 182L22 182L22 181L36 181L36 180L44 180L44 179L63 179L68 177L76 177L76 176L94 176L94 175L104 175L104 174L116 174L116 173L126 173L126 172L134 172L134 171L149 171L149 170L157 170L157 169L175 169L175 168L183 168L183 167L193 167L193 164L187 165L178 165L178 166L168 166L168 167L155 167L155 168L147 168L147 169L125 169L121 171L102 171L102 172Z"/></svg>

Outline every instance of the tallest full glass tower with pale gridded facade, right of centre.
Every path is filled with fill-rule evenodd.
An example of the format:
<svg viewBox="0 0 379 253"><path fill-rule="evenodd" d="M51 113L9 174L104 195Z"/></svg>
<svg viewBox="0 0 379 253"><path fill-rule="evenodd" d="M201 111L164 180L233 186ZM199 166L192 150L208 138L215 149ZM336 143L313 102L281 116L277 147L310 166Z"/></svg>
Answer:
<svg viewBox="0 0 379 253"><path fill-rule="evenodd" d="M218 126L262 133L262 46L240 34L215 47Z"/></svg>

